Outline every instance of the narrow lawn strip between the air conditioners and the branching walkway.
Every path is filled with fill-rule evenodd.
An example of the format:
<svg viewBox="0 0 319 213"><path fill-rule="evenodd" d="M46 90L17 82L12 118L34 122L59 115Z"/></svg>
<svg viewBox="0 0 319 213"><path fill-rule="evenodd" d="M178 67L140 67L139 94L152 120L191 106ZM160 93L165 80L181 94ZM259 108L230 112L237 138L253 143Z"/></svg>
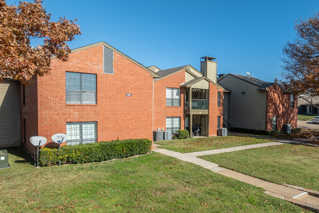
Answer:
<svg viewBox="0 0 319 213"><path fill-rule="evenodd" d="M197 151L205 151L211 149L220 149L228 147L237 147L257 143L272 142L269 139L259 139L253 137L244 136L216 136L206 138L188 138L182 140L172 141L154 141L154 143L160 144L159 148L165 148L180 153L189 153Z"/></svg>

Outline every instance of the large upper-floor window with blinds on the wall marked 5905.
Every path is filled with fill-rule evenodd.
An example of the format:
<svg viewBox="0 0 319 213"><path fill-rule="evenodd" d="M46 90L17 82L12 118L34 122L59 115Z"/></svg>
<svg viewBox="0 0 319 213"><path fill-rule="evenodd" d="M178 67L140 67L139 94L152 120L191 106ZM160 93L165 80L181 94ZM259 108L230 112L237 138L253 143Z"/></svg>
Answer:
<svg viewBox="0 0 319 213"><path fill-rule="evenodd" d="M96 74L65 72L66 103L96 104Z"/></svg>

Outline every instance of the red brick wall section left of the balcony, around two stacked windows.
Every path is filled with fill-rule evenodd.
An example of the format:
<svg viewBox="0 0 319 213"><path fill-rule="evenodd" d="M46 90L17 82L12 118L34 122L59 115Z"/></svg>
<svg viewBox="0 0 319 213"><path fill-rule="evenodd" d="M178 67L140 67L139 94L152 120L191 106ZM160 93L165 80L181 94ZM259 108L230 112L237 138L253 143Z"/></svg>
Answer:
<svg viewBox="0 0 319 213"><path fill-rule="evenodd" d="M184 97L185 88L181 88L181 106L166 106L166 87L180 88L185 82L185 71L177 72L154 82L154 128L166 130L166 117L181 117L181 129L185 129Z"/></svg>

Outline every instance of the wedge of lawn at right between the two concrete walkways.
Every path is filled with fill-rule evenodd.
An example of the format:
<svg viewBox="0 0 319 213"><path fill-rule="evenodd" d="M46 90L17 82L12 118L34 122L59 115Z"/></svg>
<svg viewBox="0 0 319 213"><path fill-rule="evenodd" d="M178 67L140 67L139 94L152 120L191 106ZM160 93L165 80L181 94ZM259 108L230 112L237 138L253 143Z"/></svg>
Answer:
<svg viewBox="0 0 319 213"><path fill-rule="evenodd" d="M269 182L319 191L319 147L284 144L201 158Z"/></svg>

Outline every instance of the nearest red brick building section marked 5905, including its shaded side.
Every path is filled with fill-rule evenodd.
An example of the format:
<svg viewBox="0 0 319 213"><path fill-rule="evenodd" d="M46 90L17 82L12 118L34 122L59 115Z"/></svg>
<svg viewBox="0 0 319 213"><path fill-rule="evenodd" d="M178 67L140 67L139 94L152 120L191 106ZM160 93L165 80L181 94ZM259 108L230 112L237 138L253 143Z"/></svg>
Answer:
<svg viewBox="0 0 319 213"><path fill-rule="evenodd" d="M105 42L73 49L67 62L51 60L51 74L21 85L21 141L66 133L66 144L149 138L153 78L158 75Z"/></svg>

